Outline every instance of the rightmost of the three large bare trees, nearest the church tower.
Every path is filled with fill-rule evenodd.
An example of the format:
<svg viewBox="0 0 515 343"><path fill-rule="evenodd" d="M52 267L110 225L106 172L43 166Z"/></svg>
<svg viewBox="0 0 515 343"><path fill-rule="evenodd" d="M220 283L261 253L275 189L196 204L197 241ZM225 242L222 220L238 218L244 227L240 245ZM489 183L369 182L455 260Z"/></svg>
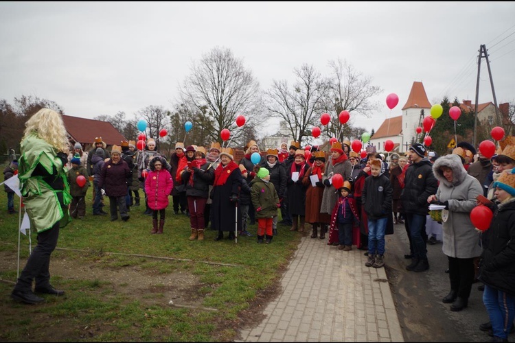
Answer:
<svg viewBox="0 0 515 343"><path fill-rule="evenodd" d="M345 60L330 60L329 67L329 87L323 101L324 109L330 114L331 121L322 134L336 137L339 141L343 141L345 137L356 138L352 129L353 117L369 117L372 110L378 110L379 103L371 102L370 98L378 95L382 89L372 85L370 77L356 71ZM347 110L351 114L351 119L345 124L339 121L342 110Z"/></svg>

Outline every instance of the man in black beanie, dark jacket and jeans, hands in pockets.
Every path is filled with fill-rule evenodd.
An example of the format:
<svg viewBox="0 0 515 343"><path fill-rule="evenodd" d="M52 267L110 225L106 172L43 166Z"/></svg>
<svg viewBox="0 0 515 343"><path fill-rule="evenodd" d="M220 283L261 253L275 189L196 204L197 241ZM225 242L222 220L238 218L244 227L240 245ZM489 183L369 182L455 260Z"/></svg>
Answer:
<svg viewBox="0 0 515 343"><path fill-rule="evenodd" d="M404 189L400 196L406 215L406 231L411 249L411 264L407 270L424 272L429 269L426 249L427 198L436 193L438 184L433 174L433 165L426 157L426 147L414 143L407 152L411 165L406 170Z"/></svg>

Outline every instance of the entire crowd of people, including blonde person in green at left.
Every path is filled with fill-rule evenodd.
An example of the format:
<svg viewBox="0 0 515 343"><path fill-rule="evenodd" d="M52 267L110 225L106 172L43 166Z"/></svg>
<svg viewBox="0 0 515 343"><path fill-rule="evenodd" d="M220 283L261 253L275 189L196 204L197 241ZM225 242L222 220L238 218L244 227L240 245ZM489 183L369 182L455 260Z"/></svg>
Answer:
<svg viewBox="0 0 515 343"><path fill-rule="evenodd" d="M233 150L216 142L208 149L177 142L169 158L156 150L153 139L146 141L144 150L138 150L134 141L107 150L102 137L95 137L89 152L80 143L71 149L62 118L48 109L31 117L26 127L20 160L4 170L6 179L19 174L25 209L38 231L38 244L12 292L16 300L44 300L32 292L33 280L36 293L64 294L49 283L49 258L59 228L69 217L80 220L86 215L85 196L92 183L93 215L127 221L131 206L144 205L144 214L152 216L151 234L163 233L172 196L174 213L180 211L190 219L191 241L202 241L209 226L218 232L216 241L225 233L228 239L252 236L249 226L257 222L257 243L271 244L279 234L278 224L303 232L308 223L312 239L324 240L328 233L328 246L345 252L353 246L365 250L365 265L372 268L385 265L385 235L393 233L395 224L404 224L409 238L409 254L404 255L410 260L407 270L428 270L426 244L440 237L450 281L442 301L451 304L451 311L465 309L472 283L481 281L490 316L481 329L490 330L501 342L513 327L515 142L511 138L492 158L466 142L441 157L413 143L406 156L393 153L389 161L373 145L361 158L351 150L350 141L332 143L328 153L316 145L303 149L295 141L261 152L250 141L236 162ZM5 191L8 213L14 213L12 190L5 187ZM104 197L109 213L102 209ZM439 205L439 217L428 215L430 204ZM493 213L490 228L483 232L474 229L470 219L472 209L482 204Z"/></svg>

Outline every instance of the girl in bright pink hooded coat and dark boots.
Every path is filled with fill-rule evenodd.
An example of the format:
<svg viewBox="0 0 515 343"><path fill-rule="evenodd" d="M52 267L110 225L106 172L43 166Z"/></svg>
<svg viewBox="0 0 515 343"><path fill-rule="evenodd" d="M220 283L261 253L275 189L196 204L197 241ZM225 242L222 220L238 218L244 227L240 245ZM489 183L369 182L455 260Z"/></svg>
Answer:
<svg viewBox="0 0 515 343"><path fill-rule="evenodd" d="M165 158L155 156L148 164L150 172L145 180L145 193L148 207L152 210L152 231L163 233L165 226L165 209L168 207L168 196L174 187L170 172L165 168ZM157 228L157 212L159 211L159 229Z"/></svg>

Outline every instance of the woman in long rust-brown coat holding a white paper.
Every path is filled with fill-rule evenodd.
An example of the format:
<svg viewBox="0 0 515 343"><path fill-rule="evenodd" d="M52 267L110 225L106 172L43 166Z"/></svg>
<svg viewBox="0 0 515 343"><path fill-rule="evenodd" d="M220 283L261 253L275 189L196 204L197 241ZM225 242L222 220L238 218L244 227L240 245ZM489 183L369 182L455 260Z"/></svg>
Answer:
<svg viewBox="0 0 515 343"><path fill-rule="evenodd" d="M317 238L318 228L323 224L329 224L331 217L327 213L320 212L320 206L322 204L323 189L325 188L322 183L323 171L325 170L325 153L315 152L314 163L312 167L308 169L302 183L306 190L306 222L312 224L313 233L311 238ZM311 176L316 175L318 177L317 183L313 186L310 180ZM325 238L325 230L320 230L320 239Z"/></svg>

